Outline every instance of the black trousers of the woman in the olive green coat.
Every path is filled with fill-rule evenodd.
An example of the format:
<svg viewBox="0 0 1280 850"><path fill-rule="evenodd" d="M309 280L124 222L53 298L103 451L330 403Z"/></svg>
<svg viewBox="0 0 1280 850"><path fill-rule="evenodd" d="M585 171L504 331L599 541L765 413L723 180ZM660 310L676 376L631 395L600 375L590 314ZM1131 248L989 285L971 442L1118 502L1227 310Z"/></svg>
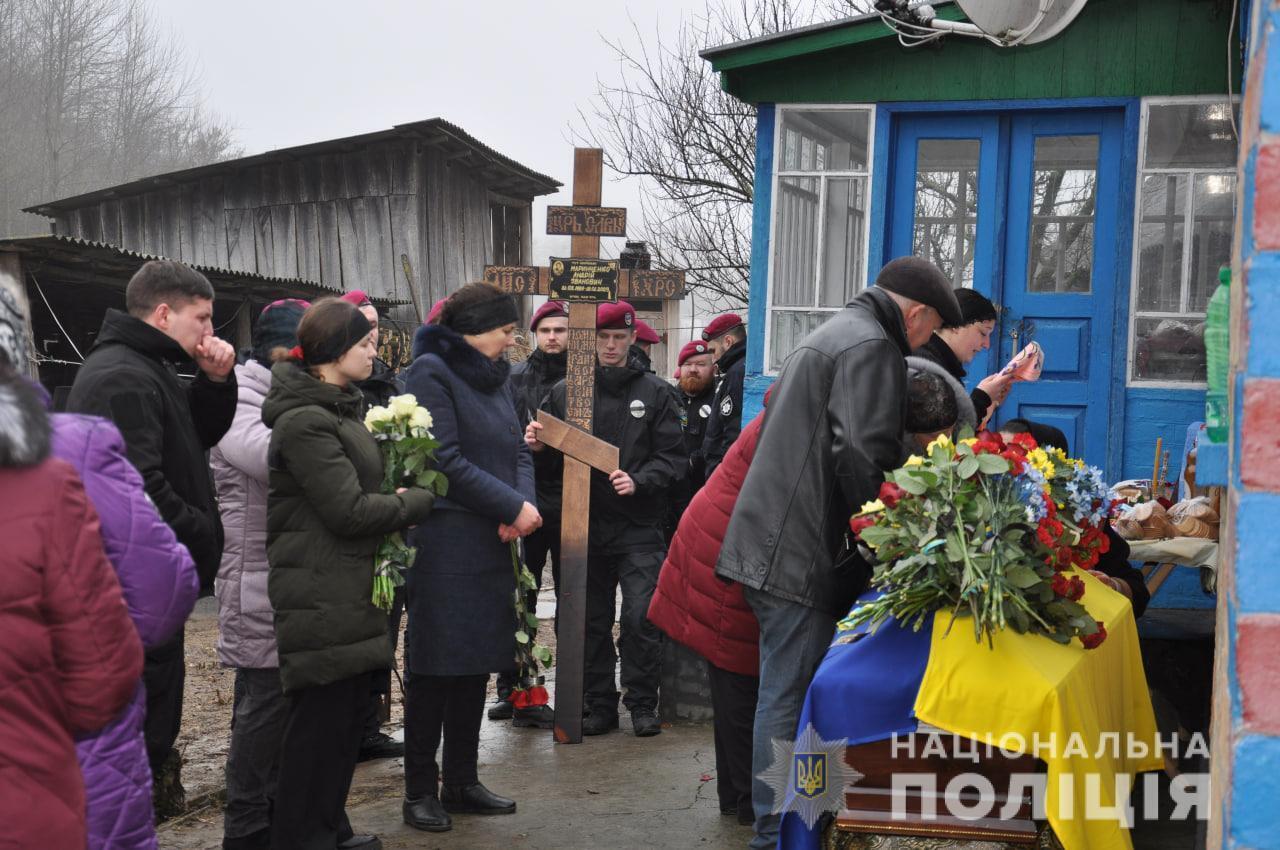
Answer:
<svg viewBox="0 0 1280 850"><path fill-rule="evenodd" d="M372 677L360 673L284 695L273 850L333 850L351 837L347 792Z"/></svg>

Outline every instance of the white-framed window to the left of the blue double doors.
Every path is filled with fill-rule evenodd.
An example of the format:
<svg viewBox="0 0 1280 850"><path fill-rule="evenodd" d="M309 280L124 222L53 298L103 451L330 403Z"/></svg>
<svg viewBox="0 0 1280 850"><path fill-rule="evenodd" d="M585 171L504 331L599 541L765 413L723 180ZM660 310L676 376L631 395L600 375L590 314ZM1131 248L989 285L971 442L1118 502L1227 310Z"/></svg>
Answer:
<svg viewBox="0 0 1280 850"><path fill-rule="evenodd" d="M778 111L768 357L777 371L867 277L872 110Z"/></svg>

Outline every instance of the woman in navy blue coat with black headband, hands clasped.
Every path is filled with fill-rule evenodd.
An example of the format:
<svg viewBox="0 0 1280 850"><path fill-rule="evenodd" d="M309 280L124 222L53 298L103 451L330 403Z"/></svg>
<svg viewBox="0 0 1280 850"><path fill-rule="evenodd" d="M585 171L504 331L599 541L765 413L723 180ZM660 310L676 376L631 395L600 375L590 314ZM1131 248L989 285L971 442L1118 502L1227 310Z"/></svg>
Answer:
<svg viewBox="0 0 1280 850"><path fill-rule="evenodd" d="M448 497L410 535L417 559L406 573L404 823L429 832L449 830L449 813L516 810L480 783L476 760L489 673L516 654L511 543L541 525L503 357L517 317L497 287L462 287L417 332L406 381L431 412L449 480Z"/></svg>

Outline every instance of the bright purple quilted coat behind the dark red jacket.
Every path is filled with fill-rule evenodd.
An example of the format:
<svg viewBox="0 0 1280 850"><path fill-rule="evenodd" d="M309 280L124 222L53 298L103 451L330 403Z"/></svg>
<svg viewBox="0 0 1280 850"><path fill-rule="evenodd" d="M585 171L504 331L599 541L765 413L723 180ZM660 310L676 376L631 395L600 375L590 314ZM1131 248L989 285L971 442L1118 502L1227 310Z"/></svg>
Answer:
<svg viewBox="0 0 1280 850"><path fill-rule="evenodd" d="M102 548L115 567L129 617L151 648L182 629L198 580L187 547L160 518L142 476L124 454L124 438L97 416L56 413L52 451L70 463L102 521ZM142 737L142 682L125 709L96 735L76 742L84 776L90 850L156 846L151 768Z"/></svg>

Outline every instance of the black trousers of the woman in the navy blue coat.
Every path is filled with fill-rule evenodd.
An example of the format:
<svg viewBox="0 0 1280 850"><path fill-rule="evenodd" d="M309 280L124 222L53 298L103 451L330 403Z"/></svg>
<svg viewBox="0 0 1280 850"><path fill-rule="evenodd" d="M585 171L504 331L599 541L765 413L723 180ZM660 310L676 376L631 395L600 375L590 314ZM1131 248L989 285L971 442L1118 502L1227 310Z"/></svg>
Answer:
<svg viewBox="0 0 1280 850"><path fill-rule="evenodd" d="M404 796L435 796L442 778L435 750L444 739L445 785L479 781L480 721L486 673L417 676L404 671Z"/></svg>

